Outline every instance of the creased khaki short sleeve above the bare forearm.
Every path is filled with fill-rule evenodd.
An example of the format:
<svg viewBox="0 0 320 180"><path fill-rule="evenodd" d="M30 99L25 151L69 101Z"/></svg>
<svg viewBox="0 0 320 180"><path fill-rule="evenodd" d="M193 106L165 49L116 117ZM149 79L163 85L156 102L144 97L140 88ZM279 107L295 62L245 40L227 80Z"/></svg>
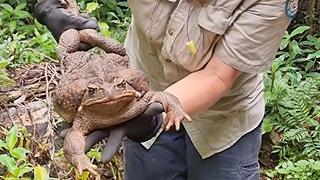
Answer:
<svg viewBox="0 0 320 180"><path fill-rule="evenodd" d="M267 70L290 19L285 0L262 0L241 13L215 47L214 55L246 73Z"/></svg>

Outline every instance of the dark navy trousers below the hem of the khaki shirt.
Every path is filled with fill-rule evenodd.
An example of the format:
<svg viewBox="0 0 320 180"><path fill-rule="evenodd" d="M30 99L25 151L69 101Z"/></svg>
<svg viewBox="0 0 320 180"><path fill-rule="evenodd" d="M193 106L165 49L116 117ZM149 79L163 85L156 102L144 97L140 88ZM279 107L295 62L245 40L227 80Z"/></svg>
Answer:
<svg viewBox="0 0 320 180"><path fill-rule="evenodd" d="M149 150L124 141L125 180L259 180L258 126L230 148L202 159L186 131L162 132Z"/></svg>

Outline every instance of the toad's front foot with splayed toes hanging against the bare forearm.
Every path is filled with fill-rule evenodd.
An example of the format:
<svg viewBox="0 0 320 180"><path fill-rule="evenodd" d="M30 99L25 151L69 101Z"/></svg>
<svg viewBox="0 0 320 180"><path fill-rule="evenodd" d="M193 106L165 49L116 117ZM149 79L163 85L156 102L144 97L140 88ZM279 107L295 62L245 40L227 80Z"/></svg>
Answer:
<svg viewBox="0 0 320 180"><path fill-rule="evenodd" d="M167 92L154 92L151 102L159 102L163 105L164 111L167 114L162 127L169 130L173 125L178 131L181 121L187 119L191 121L191 117L183 111L183 108L177 97Z"/></svg>

